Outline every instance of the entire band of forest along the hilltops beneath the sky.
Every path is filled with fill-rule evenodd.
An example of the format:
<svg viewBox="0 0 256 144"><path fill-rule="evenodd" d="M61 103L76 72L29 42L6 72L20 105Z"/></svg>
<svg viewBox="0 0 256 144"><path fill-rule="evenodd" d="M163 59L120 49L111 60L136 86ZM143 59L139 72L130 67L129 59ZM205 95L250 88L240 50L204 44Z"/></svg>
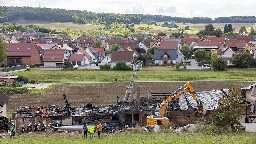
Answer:
<svg viewBox="0 0 256 144"><path fill-rule="evenodd" d="M162 15L143 14L115 14L94 13L86 10L65 10L57 8L39 7L0 7L0 23L15 20L44 20L52 22L99 23L110 25L112 23L140 24L144 21L182 22L182 23L256 23L255 16L218 17L172 17Z"/></svg>

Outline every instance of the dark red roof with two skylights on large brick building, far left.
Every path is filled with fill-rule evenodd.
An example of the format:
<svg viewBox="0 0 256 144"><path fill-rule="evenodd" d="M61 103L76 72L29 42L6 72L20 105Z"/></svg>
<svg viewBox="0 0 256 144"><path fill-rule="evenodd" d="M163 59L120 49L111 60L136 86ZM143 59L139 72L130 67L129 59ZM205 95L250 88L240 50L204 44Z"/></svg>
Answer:
<svg viewBox="0 0 256 144"><path fill-rule="evenodd" d="M31 56L35 48L35 43L8 43L7 56Z"/></svg>

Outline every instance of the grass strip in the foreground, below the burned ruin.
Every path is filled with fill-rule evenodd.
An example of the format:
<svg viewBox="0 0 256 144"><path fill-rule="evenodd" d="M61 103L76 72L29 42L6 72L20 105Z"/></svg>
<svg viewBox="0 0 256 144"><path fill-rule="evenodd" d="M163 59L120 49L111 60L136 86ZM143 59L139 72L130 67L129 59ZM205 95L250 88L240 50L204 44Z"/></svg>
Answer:
<svg viewBox="0 0 256 144"><path fill-rule="evenodd" d="M93 139L83 139L82 134L23 134L16 139L2 138L2 143L25 144L253 144L256 141L255 133L237 132L221 135L207 135L204 133L97 133Z"/></svg>

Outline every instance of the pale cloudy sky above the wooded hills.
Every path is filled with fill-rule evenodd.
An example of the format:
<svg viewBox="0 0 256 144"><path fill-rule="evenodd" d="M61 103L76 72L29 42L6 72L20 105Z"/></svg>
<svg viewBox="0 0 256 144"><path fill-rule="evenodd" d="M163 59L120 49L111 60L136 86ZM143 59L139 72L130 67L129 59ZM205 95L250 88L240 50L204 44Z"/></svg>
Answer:
<svg viewBox="0 0 256 144"><path fill-rule="evenodd" d="M0 6L31 6L178 17L253 16L255 0L0 0Z"/></svg>

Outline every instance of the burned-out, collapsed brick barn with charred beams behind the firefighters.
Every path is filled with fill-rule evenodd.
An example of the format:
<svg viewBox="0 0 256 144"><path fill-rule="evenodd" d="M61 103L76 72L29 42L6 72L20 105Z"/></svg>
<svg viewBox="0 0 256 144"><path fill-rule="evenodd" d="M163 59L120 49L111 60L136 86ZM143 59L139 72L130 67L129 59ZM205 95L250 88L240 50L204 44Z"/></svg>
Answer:
<svg viewBox="0 0 256 144"><path fill-rule="evenodd" d="M214 90L197 92L198 97L202 100L204 110L207 113L217 107L218 100L223 94L227 94L227 90ZM124 125L133 127L135 124L146 126L147 116L149 113L154 115L157 104L166 99L169 93L151 93L147 96L140 95L140 87L133 93L133 100L123 102L117 99L116 104L108 107L97 107L87 104L83 107L72 107L64 95L66 106L56 107L49 105L48 107L20 107L15 116L15 124L17 131L20 131L22 125L29 123L45 122L54 125L81 125L87 123L106 123L108 127L113 129L122 129ZM178 100L173 101L168 107L169 120L177 126L193 124L199 117L196 117L196 102L189 93L185 93Z"/></svg>

